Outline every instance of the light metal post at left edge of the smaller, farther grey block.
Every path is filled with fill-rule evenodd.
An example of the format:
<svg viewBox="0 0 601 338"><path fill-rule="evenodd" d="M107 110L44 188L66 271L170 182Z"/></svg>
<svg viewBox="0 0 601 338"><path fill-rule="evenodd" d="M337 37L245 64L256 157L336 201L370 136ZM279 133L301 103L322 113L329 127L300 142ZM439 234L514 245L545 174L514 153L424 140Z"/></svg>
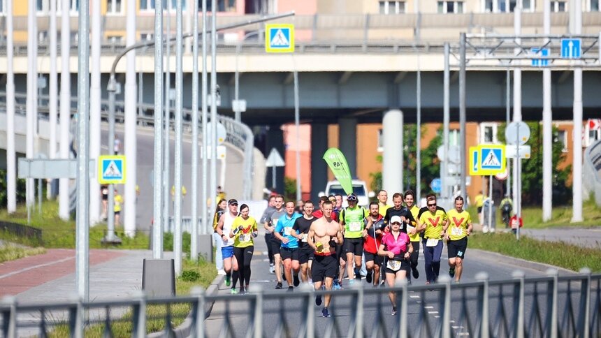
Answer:
<svg viewBox="0 0 601 338"><path fill-rule="evenodd" d="M192 233L190 256L198 259L198 1L192 6ZM205 218L206 215L203 215ZM204 229L203 229L204 230Z"/></svg>

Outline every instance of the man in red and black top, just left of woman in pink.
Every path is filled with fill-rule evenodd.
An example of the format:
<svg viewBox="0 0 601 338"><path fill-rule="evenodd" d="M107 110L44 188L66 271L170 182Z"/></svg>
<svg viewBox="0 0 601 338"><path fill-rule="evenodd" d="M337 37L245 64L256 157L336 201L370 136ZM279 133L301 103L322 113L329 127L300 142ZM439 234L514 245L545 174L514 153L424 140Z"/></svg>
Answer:
<svg viewBox="0 0 601 338"><path fill-rule="evenodd" d="M379 214L378 203L370 203L370 221L373 226L368 230L368 237L365 237L363 244L363 254L365 255L365 269L368 274L365 276L365 281L372 282L373 285L379 285L380 267L384 258L377 254L379 244L382 242L382 234L384 233L384 217ZM373 274L372 274L373 273Z"/></svg>

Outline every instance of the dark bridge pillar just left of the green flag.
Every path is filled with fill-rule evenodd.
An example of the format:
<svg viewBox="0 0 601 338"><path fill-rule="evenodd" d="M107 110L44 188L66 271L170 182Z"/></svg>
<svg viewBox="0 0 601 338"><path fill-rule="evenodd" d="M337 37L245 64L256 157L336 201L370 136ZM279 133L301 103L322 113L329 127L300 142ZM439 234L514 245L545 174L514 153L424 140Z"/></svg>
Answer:
<svg viewBox="0 0 601 338"><path fill-rule="evenodd" d="M322 157L328 149L328 124L311 125L311 200L317 204L328 183L328 164Z"/></svg>

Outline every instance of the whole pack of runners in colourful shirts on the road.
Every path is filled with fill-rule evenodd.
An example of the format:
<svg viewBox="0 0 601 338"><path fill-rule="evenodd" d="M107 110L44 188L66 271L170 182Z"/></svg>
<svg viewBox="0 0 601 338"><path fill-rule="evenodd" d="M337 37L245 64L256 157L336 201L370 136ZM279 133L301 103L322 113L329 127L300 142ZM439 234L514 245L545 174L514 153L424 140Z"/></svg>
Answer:
<svg viewBox="0 0 601 338"><path fill-rule="evenodd" d="M378 202L366 209L357 205L354 193L346 196L348 207L342 208L342 196L324 196L319 205L311 200L303 203L303 214L295 211L296 203L284 203L284 196L273 196L260 223L266 230L270 272L275 274L276 289L283 288L284 279L289 291L301 281L312 282L315 290L342 288L345 272L348 283L365 281L373 286L395 286L401 279L419 279L417 270L420 243L423 246L426 284L435 283L440 272L443 240L447 241L449 275L461 279L465 249L472 231L470 214L463 210L463 198L454 201L454 210L446 212L437 205L435 194L426 196L426 206L414 204L411 190L393 194L393 205L388 205L388 194L379 191ZM250 258L257 223L248 216L248 206L228 201L227 212L217 221L216 232L222 237L222 255L226 285L236 291L240 279L240 293L247 292L250 279ZM315 210L317 208L317 210ZM365 266L363 267L363 261ZM282 265L284 267L282 273ZM382 276L383 275L383 276ZM396 295L389 293L393 304ZM329 317L331 294L324 300L316 297L316 304L324 307L321 315Z"/></svg>

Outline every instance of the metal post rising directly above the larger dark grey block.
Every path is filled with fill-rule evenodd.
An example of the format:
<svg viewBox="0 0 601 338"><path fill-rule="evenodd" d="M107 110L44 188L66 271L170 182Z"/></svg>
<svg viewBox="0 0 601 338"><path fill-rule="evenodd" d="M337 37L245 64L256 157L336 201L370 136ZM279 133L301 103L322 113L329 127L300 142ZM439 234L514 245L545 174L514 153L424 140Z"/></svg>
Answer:
<svg viewBox="0 0 601 338"><path fill-rule="evenodd" d="M152 258L163 258L163 0L155 0L154 10L154 226L152 227Z"/></svg>

